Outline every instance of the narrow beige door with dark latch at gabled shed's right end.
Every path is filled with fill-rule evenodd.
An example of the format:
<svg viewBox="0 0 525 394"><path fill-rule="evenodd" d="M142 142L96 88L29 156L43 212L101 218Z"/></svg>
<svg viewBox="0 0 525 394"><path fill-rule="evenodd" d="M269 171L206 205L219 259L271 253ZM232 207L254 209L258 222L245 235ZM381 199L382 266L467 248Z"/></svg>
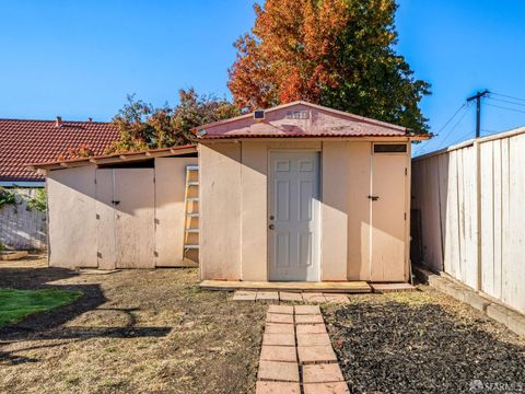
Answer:
<svg viewBox="0 0 525 394"><path fill-rule="evenodd" d="M372 281L406 280L406 167L405 154L372 155Z"/></svg>

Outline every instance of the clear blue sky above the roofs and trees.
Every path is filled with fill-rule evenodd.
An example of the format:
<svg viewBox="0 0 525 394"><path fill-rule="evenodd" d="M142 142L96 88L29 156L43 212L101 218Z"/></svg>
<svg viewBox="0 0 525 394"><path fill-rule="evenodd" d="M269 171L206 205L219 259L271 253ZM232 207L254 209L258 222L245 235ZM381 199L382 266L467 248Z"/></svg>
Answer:
<svg viewBox="0 0 525 394"><path fill-rule="evenodd" d="M107 121L127 94L176 104L190 86L231 99L233 43L253 25L252 4L0 0L0 118ZM462 105L483 89L493 93L482 136L525 126L523 15L522 0L399 0L396 50L432 84L421 108L438 136L417 154L472 138L475 108Z"/></svg>

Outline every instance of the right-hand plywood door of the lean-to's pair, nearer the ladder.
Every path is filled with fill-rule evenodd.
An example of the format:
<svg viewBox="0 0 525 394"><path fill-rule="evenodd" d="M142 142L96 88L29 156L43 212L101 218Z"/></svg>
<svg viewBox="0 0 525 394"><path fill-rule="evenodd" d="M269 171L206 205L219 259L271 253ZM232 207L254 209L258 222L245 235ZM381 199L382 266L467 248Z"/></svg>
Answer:
<svg viewBox="0 0 525 394"><path fill-rule="evenodd" d="M154 183L152 169L116 169L116 266L153 268Z"/></svg>

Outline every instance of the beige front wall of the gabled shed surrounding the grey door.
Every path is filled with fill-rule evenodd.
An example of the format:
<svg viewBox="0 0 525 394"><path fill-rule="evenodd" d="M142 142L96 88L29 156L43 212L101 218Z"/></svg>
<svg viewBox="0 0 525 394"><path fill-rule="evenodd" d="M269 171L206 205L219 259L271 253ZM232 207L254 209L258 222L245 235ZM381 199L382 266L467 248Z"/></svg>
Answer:
<svg viewBox="0 0 525 394"><path fill-rule="evenodd" d="M272 149L322 152L322 280L371 279L372 142L362 140L201 143L201 278L268 279L268 152ZM409 152L404 162L409 166ZM401 195L409 195L408 184L400 186ZM408 254L400 273L384 280L408 279L407 265Z"/></svg>

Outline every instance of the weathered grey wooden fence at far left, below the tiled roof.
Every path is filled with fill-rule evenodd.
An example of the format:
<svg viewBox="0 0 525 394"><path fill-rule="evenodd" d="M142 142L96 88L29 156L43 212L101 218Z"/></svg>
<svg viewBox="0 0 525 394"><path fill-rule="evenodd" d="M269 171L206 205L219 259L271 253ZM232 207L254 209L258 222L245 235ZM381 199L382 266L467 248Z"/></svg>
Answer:
<svg viewBox="0 0 525 394"><path fill-rule="evenodd" d="M16 205L0 208L0 243L15 250L45 250L47 246L46 212L27 208L27 198L39 188L9 188L18 197Z"/></svg>

